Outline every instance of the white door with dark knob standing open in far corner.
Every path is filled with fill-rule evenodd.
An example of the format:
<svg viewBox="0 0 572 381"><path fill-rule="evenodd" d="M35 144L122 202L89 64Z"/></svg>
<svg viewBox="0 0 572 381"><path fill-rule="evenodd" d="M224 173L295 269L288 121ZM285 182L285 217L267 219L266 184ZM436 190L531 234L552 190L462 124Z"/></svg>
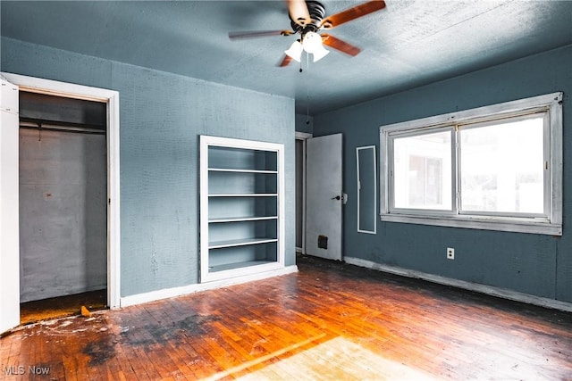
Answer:
<svg viewBox="0 0 572 381"><path fill-rule="evenodd" d="M306 253L341 261L342 135L307 139Z"/></svg>

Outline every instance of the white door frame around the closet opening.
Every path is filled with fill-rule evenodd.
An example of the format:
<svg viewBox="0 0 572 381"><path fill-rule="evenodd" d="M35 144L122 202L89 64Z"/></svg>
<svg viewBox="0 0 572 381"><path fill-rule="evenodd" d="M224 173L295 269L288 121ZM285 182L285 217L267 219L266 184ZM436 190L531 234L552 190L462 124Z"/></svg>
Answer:
<svg viewBox="0 0 572 381"><path fill-rule="evenodd" d="M107 305L110 309L121 307L121 226L120 226L120 114L119 92L98 87L75 85L50 79L38 79L19 74L0 72L7 81L20 87L19 91L55 95L107 104ZM7 144L18 146L19 142ZM2 167L14 165L1 162ZM15 165L18 165L16 162ZM14 192L18 192L16 184ZM20 216L18 216L20 220ZM20 256L20 243L14 248ZM0 255L13 255L0 253ZM19 260L20 262L20 260ZM20 278L20 274L17 274ZM20 309L20 304L13 308Z"/></svg>

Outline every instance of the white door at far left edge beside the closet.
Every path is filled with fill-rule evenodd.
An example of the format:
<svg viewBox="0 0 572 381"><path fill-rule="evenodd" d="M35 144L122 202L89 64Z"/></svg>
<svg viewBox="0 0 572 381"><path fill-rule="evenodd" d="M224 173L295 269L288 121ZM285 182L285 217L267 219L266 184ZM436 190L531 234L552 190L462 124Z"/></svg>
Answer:
<svg viewBox="0 0 572 381"><path fill-rule="evenodd" d="M18 216L19 89L3 78L0 78L0 87L1 334L20 324L20 232Z"/></svg>

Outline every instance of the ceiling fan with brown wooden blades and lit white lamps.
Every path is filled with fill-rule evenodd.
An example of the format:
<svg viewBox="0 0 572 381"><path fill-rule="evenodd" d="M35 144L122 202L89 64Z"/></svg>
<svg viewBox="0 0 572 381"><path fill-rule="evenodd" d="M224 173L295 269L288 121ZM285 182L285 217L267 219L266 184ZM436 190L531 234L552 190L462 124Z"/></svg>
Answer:
<svg viewBox="0 0 572 381"><path fill-rule="evenodd" d="M229 37L231 40L237 40L251 37L290 36L299 34L299 39L294 41L290 48L284 52L285 55L278 65L281 67L288 65L292 60L300 62L304 51L313 55L314 62L321 60L326 54L330 53L324 48L324 45L354 56L361 51L357 46L353 46L330 34L319 32L323 29L333 29L348 21L379 11L385 7L383 0L368 1L324 18L324 5L318 1L286 0L286 3L288 4L288 14L290 16L292 30L231 32L229 33Z"/></svg>

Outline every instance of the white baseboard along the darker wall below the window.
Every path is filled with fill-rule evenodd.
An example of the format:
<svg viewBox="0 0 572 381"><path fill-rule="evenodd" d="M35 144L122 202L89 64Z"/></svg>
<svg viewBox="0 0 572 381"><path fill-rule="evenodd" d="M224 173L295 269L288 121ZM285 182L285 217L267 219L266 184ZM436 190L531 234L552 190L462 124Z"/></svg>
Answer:
<svg viewBox="0 0 572 381"><path fill-rule="evenodd" d="M499 296L501 298L509 299L512 301L526 302L541 307L572 312L572 303L568 302L560 302L554 299L543 298L531 294L518 293L517 291L511 291L495 286L480 285L478 283L467 282L464 280L453 279L450 277L442 277L439 275L428 274L425 272L416 271L412 269L402 269L399 267L383 265L380 263L375 263L374 261L362 260L360 258L344 257L344 261L346 261L346 263L356 265L359 267L365 267L367 269L375 269L378 271L388 272L391 274L400 275L402 277L415 277L418 279L428 280L433 283L438 283L441 285L454 286L458 288L464 288L469 291L475 291L477 293Z"/></svg>

